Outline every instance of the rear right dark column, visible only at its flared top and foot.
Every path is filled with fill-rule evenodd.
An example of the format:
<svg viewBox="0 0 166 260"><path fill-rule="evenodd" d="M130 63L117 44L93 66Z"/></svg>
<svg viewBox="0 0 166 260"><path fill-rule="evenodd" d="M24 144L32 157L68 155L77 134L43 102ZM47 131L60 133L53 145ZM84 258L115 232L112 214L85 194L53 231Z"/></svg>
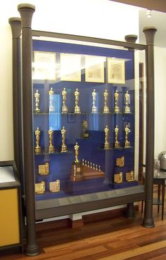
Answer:
<svg viewBox="0 0 166 260"><path fill-rule="evenodd" d="M135 44L137 38L138 37L136 34L128 34L125 36L125 41ZM128 48L128 49L129 49L129 51L134 51L134 48ZM126 210L125 216L127 216L127 218L135 217L134 202L127 203L127 210Z"/></svg>

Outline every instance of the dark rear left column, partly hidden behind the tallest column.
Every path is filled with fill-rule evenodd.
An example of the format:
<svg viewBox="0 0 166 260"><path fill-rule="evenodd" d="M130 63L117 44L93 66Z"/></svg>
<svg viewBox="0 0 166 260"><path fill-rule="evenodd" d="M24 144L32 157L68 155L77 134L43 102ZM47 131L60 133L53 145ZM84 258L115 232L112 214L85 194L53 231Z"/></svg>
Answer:
<svg viewBox="0 0 166 260"><path fill-rule="evenodd" d="M21 100L20 100L20 33L21 19L8 19L12 32L12 63L13 63L13 139L14 139L14 160L18 174L22 174L22 150L21 150Z"/></svg>

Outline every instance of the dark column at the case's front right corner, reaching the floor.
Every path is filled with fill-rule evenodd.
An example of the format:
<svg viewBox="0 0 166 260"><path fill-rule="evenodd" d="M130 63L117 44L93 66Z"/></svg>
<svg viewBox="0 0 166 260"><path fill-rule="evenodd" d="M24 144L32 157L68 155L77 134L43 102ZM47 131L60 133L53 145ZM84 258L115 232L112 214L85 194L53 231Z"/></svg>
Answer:
<svg viewBox="0 0 166 260"><path fill-rule="evenodd" d="M157 29L145 27L146 36L146 201L143 226L153 228L153 162L154 162L154 136L155 136L155 102L154 102L154 38Z"/></svg>

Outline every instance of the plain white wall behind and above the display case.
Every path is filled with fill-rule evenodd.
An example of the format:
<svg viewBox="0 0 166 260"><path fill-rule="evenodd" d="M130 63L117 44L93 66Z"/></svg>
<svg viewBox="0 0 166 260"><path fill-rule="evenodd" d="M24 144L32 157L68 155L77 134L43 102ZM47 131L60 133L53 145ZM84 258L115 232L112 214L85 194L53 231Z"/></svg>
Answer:
<svg viewBox="0 0 166 260"><path fill-rule="evenodd" d="M0 160L13 160L12 42L8 18L18 4L34 4L32 29L123 40L139 34L139 11L108 0L6 0L0 10ZM131 22L132 21L132 22Z"/></svg>

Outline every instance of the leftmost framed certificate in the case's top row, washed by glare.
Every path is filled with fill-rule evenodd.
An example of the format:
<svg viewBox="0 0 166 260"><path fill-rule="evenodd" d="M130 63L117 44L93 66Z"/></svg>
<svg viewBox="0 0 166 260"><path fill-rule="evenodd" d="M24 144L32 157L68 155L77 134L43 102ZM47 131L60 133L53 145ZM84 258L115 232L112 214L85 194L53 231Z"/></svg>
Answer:
<svg viewBox="0 0 166 260"><path fill-rule="evenodd" d="M33 79L56 79L56 53L34 51Z"/></svg>

